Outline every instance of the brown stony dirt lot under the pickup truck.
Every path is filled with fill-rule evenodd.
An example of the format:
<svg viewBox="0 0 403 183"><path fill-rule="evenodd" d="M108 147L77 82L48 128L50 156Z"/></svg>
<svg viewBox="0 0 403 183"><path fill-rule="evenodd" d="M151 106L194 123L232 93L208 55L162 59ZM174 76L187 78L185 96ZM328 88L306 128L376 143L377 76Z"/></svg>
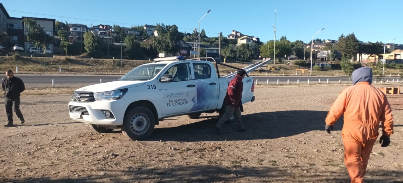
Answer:
<svg viewBox="0 0 403 183"><path fill-rule="evenodd" d="M70 95L23 95L26 124L0 126L0 182L346 183L343 120L324 132L326 111L344 87L256 88L242 116L247 132L226 124L212 134L214 113L166 119L144 141L119 130L96 134L71 120ZM388 99L395 134L389 147L374 146L370 183L403 182L403 95ZM0 113L6 123L4 107Z"/></svg>

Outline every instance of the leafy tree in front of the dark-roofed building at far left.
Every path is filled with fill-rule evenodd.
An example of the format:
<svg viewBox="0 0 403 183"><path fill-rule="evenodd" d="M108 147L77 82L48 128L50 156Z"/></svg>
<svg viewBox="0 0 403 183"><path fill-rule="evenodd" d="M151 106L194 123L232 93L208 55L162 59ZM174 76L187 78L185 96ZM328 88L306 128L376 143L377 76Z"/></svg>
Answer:
<svg viewBox="0 0 403 183"><path fill-rule="evenodd" d="M24 18L23 23L29 29L27 40L35 45L35 47L42 48L44 53L46 53L46 47L52 43L52 37L40 25L37 25L35 19Z"/></svg>

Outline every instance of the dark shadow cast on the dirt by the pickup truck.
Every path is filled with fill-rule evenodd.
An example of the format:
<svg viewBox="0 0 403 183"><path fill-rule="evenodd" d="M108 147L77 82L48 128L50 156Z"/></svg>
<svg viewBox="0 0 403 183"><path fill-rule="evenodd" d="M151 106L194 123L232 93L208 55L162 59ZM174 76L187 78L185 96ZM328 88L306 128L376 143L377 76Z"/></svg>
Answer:
<svg viewBox="0 0 403 183"><path fill-rule="evenodd" d="M247 132L237 132L235 123L225 123L223 134L213 134L213 127L218 116L202 117L200 121L180 125L177 127L156 128L150 138L146 140L165 141L218 141L218 140L257 140L275 139L293 136L318 130L324 133L327 111L275 111L242 115ZM206 119L207 118L207 119ZM341 117L343 119L343 117ZM333 130L341 130L342 120L334 125ZM160 123L169 123L162 121ZM158 127L158 126L156 126Z"/></svg>

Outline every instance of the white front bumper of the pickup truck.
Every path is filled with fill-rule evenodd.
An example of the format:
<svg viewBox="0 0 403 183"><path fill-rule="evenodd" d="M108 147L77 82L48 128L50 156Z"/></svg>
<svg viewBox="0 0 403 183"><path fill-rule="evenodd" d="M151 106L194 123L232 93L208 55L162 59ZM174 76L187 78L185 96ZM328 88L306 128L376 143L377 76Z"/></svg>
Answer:
<svg viewBox="0 0 403 183"><path fill-rule="evenodd" d="M70 118L75 121L93 125L118 126L123 124L125 111L129 103L123 99L115 101L94 101L89 103L69 102ZM110 117L106 117L105 111L109 111ZM75 113L81 115L76 116Z"/></svg>

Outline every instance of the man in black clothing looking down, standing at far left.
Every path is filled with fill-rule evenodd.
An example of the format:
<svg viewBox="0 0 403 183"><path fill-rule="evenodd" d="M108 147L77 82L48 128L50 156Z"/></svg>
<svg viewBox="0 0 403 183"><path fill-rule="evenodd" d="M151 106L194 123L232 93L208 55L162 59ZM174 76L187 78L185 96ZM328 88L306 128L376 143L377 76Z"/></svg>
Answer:
<svg viewBox="0 0 403 183"><path fill-rule="evenodd" d="M4 104L6 105L7 121L5 127L12 126L12 111L17 114L17 117L21 120L21 124L25 122L23 114L20 110L20 95L25 90L23 80L17 78L12 73L12 70L6 72L7 78L2 82L2 88L4 90Z"/></svg>

